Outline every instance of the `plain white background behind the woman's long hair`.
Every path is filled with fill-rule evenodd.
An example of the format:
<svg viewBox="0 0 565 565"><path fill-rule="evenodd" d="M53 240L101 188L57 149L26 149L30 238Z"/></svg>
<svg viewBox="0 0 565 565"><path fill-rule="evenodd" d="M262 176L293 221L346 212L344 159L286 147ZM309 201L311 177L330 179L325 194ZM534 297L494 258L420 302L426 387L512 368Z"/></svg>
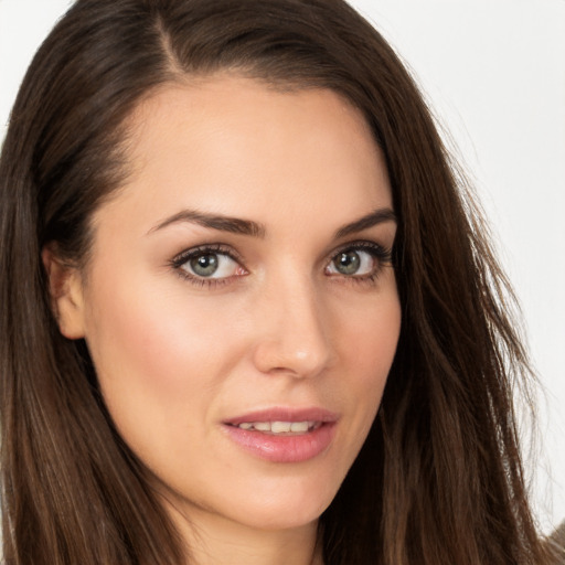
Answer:
<svg viewBox="0 0 565 565"><path fill-rule="evenodd" d="M0 139L29 61L70 3L0 0ZM565 519L565 0L352 4L409 63L450 131L522 302L544 386L532 467L548 532Z"/></svg>

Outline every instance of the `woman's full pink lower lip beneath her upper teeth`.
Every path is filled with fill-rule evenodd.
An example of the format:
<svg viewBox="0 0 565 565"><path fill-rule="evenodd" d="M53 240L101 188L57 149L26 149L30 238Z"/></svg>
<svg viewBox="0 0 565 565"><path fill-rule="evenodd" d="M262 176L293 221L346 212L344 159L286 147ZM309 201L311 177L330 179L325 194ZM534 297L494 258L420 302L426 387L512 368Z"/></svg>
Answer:
<svg viewBox="0 0 565 565"><path fill-rule="evenodd" d="M335 431L335 423L323 423L319 428L295 436L263 434L237 426L224 426L230 438L252 455L276 463L308 461L328 449Z"/></svg>

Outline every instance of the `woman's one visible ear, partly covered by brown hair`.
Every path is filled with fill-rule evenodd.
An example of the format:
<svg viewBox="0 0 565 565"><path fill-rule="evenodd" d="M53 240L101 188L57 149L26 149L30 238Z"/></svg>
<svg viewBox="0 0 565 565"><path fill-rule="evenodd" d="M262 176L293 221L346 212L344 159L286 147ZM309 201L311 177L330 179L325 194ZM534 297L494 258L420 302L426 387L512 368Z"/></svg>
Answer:
<svg viewBox="0 0 565 565"><path fill-rule="evenodd" d="M45 245L41 258L49 277L53 312L61 333L70 340L84 338L83 281L77 267L62 260L54 245Z"/></svg>

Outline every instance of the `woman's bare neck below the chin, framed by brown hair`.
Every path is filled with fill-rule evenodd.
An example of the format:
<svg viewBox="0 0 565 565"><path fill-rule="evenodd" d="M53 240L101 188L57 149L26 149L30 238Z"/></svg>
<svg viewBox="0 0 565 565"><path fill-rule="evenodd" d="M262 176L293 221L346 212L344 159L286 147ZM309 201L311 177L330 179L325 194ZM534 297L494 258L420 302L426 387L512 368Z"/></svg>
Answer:
<svg viewBox="0 0 565 565"><path fill-rule="evenodd" d="M185 542L186 565L323 565L317 522L264 530L194 507L170 510Z"/></svg>

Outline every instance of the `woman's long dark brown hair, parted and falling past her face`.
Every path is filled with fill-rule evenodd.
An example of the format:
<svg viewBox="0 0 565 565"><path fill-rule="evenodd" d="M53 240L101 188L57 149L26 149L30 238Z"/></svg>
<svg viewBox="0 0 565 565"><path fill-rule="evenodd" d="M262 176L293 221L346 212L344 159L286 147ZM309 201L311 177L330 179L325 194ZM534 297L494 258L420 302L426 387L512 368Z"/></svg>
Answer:
<svg viewBox="0 0 565 565"><path fill-rule="evenodd" d="M87 260L92 214L128 172L128 116L160 85L217 70L345 96L393 188L402 333L379 416L320 520L326 564L544 563L507 280L411 76L341 0L78 0L33 60L0 161L6 563L185 561L84 342L58 332L41 249Z"/></svg>

